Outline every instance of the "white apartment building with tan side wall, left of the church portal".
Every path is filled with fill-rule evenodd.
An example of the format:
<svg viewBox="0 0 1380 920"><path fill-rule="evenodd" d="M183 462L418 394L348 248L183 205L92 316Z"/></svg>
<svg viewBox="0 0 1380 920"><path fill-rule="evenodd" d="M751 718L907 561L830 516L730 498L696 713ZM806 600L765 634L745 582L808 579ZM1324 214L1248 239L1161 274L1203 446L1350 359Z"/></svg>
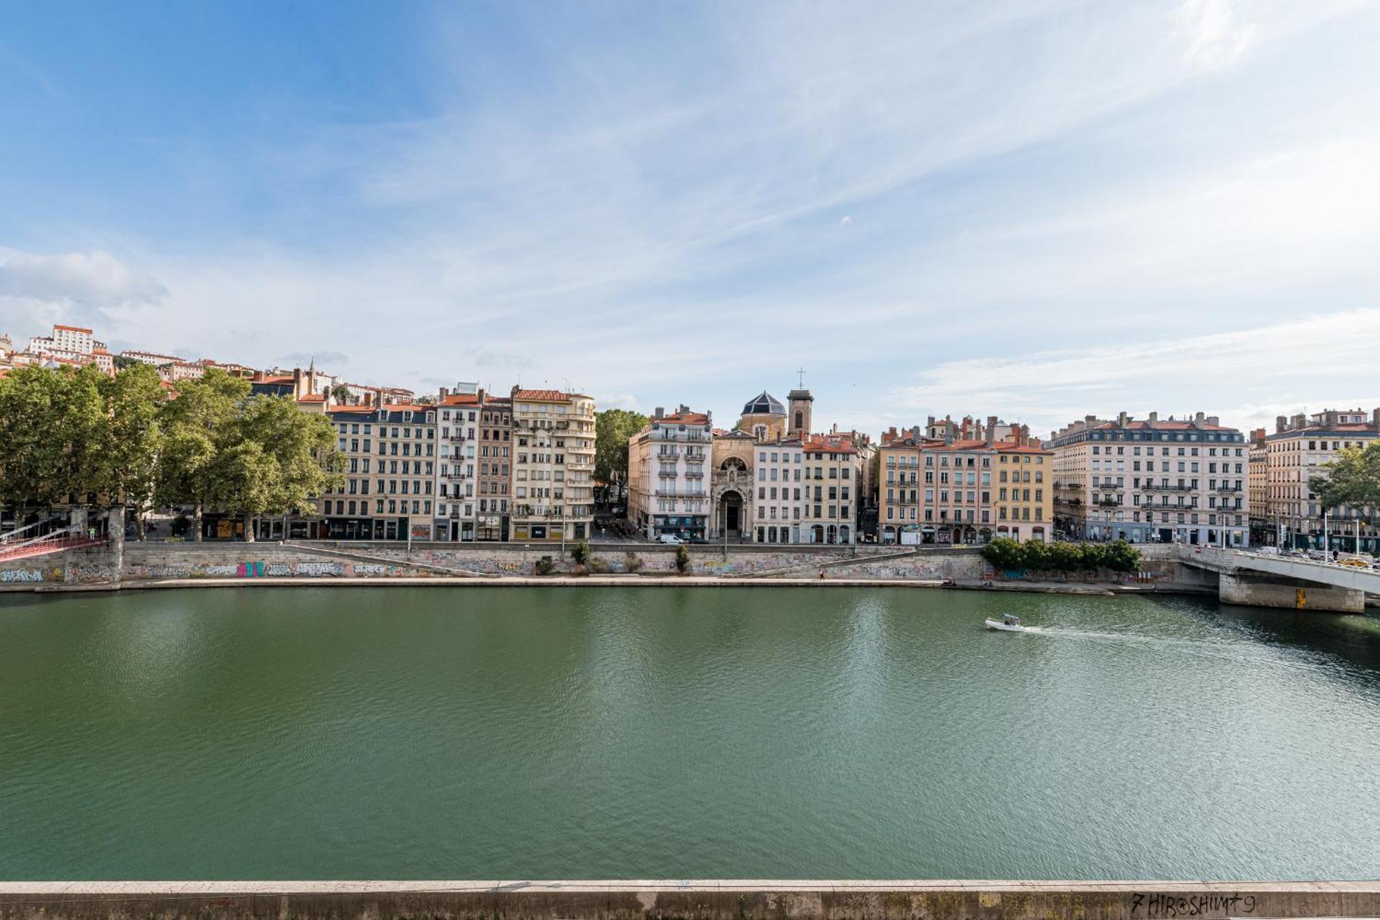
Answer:
<svg viewBox="0 0 1380 920"><path fill-rule="evenodd" d="M647 425L628 439L628 521L649 540L671 533L704 540L709 533L708 412L657 406Z"/></svg>

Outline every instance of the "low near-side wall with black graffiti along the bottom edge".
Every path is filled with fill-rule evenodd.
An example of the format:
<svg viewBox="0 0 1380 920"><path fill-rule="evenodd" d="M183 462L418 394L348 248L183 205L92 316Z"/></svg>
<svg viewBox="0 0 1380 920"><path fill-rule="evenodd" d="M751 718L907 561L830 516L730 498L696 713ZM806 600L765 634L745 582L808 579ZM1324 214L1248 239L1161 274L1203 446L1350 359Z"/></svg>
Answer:
<svg viewBox="0 0 1380 920"><path fill-rule="evenodd" d="M1374 917L1380 883L0 883L0 920L1228 920Z"/></svg>

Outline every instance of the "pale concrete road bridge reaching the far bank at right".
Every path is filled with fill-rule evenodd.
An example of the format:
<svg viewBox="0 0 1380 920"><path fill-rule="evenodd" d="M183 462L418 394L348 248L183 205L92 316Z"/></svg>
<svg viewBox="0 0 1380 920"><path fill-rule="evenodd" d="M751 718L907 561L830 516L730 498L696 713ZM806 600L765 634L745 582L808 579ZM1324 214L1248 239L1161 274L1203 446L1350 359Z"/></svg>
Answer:
<svg viewBox="0 0 1380 920"><path fill-rule="evenodd" d="M1184 544L1179 562L1216 572L1224 604L1361 613L1380 595L1380 571L1359 566Z"/></svg>

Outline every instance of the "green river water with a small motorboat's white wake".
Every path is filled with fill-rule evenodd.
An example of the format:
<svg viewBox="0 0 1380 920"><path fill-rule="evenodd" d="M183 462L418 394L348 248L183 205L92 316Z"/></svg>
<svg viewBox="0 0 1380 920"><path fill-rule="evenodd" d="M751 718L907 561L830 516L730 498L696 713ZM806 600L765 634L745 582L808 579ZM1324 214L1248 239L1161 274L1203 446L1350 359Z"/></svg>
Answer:
<svg viewBox="0 0 1380 920"><path fill-rule="evenodd" d="M1039 629L985 631L1000 612ZM886 587L0 595L3 879L1373 879L1377 780L1374 617Z"/></svg>

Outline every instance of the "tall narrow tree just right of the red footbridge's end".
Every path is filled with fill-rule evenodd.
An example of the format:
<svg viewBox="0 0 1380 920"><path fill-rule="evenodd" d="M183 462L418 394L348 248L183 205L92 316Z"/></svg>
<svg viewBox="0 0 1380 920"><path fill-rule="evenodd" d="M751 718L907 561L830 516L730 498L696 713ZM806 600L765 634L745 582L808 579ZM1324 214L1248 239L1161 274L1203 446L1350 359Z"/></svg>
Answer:
<svg viewBox="0 0 1380 920"><path fill-rule="evenodd" d="M149 365L134 362L102 381L108 414L106 450L102 454L101 490L112 501L134 507L138 537L144 539L144 511L153 501L159 452L163 446L161 409L167 402L163 381Z"/></svg>

